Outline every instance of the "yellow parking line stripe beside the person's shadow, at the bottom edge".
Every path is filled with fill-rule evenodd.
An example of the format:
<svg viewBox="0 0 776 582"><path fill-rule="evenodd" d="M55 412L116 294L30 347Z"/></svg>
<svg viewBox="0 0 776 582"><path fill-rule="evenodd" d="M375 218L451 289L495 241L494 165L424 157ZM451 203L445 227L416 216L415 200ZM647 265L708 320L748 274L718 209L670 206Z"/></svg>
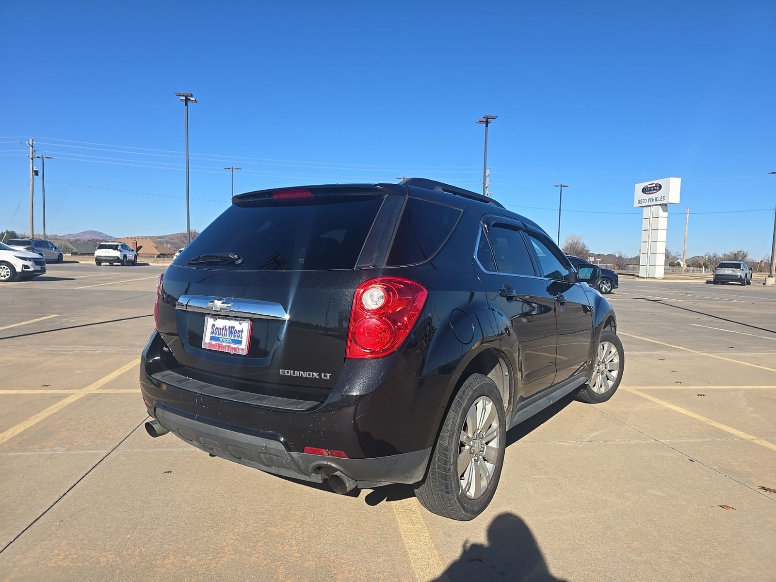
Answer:
<svg viewBox="0 0 776 582"><path fill-rule="evenodd" d="M417 580L447 582L445 569L439 561L431 536L428 535L417 500L414 497L401 499L394 501L391 507L399 522L399 531L404 539L404 547L410 556L410 563Z"/></svg>

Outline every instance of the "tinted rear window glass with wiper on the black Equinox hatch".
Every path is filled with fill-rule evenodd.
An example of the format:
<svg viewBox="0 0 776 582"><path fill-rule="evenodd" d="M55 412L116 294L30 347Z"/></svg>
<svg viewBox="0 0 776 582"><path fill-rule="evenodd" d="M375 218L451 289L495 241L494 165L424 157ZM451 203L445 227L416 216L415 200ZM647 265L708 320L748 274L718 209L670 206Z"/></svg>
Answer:
<svg viewBox="0 0 776 582"><path fill-rule="evenodd" d="M384 196L320 196L289 202L234 204L175 260L236 253L239 268L315 271L355 268ZM234 265L203 265L235 268Z"/></svg>

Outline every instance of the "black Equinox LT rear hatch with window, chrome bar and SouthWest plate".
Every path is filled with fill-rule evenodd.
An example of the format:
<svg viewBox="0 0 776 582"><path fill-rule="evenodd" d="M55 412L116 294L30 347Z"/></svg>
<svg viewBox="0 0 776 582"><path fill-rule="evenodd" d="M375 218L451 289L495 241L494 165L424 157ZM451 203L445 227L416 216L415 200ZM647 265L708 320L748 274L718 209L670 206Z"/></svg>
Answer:
<svg viewBox="0 0 776 582"><path fill-rule="evenodd" d="M166 367L225 389L322 400L345 362L355 288L375 276L403 199L372 186L237 196L165 273Z"/></svg>

